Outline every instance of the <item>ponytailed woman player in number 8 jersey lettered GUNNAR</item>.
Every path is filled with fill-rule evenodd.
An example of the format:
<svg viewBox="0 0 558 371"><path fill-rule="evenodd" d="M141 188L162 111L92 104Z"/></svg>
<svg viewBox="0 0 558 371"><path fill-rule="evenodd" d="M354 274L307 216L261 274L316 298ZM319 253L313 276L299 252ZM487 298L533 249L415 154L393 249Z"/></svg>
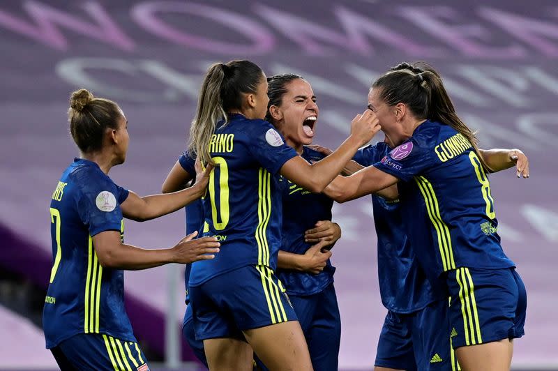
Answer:
<svg viewBox="0 0 558 371"><path fill-rule="evenodd" d="M508 370L523 335L527 295L499 244L497 220L476 138L455 114L439 75L407 63L372 84L368 96L388 142L387 156L326 193L360 197L398 183L400 212L435 294L448 293L451 342L463 370ZM492 160L513 165L506 151ZM529 176L518 167L518 176ZM410 215L413 215L412 217Z"/></svg>

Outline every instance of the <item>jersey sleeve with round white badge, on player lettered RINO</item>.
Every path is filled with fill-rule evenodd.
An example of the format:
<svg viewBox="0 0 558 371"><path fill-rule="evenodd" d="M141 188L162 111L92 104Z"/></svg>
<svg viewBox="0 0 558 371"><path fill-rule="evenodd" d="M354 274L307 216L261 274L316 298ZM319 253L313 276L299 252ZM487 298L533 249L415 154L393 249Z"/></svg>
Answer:
<svg viewBox="0 0 558 371"><path fill-rule="evenodd" d="M250 139L248 151L271 174L276 174L285 162L299 156L267 121L257 121L247 133Z"/></svg>

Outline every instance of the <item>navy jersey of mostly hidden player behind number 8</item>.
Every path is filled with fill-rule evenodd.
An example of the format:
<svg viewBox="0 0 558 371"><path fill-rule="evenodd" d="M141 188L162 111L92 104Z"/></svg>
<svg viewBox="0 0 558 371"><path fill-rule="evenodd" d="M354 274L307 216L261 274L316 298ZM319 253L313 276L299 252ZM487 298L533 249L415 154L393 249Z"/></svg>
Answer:
<svg viewBox="0 0 558 371"><path fill-rule="evenodd" d="M391 148L385 142L365 146L353 160L363 166L374 165ZM378 282L384 306L395 313L411 313L425 308L444 294L434 292L413 250L402 218L400 201L372 194L374 224L378 239Z"/></svg>

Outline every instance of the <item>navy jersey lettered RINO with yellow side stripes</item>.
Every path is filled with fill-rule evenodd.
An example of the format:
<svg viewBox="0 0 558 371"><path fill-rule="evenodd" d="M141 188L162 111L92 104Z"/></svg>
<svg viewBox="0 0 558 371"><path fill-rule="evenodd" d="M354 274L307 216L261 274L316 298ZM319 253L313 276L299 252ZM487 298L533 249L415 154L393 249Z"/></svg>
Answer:
<svg viewBox="0 0 558 371"><path fill-rule="evenodd" d="M281 192L278 172L298 156L264 120L233 114L218 123L209 144L216 167L203 199L202 236L216 236L215 259L192 265L190 286L241 266L275 270L281 245Z"/></svg>

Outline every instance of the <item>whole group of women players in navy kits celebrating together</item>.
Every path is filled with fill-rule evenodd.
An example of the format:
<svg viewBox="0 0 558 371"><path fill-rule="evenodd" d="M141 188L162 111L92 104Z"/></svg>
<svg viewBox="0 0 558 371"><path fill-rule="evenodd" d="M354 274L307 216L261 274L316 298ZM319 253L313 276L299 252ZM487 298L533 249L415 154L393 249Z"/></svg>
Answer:
<svg viewBox="0 0 558 371"><path fill-rule="evenodd" d="M527 294L500 245L488 173L515 165L528 178L529 162L478 149L432 67L400 63L375 80L331 151L312 145L319 108L306 79L215 63L188 149L163 194L146 197L108 176L128 149L120 107L80 89L68 116L80 157L52 195L43 312L61 370L149 370L123 270L168 263L187 264L183 335L210 370L338 370L331 208L365 195L388 310L375 370L509 370ZM384 142L365 146L379 130ZM188 236L174 247L124 243L123 218L184 206Z"/></svg>

